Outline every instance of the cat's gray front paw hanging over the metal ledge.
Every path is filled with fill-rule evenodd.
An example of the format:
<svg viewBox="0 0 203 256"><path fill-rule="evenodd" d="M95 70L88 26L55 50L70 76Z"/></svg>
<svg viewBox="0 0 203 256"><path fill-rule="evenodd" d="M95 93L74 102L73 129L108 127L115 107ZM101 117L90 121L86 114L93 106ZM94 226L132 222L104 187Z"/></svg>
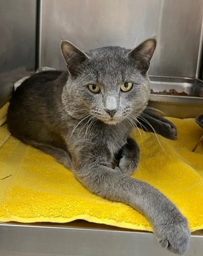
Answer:
<svg viewBox="0 0 203 256"><path fill-rule="evenodd" d="M160 245L173 253L182 255L189 249L190 230L187 219L178 211L177 215L157 224L154 233Z"/></svg>

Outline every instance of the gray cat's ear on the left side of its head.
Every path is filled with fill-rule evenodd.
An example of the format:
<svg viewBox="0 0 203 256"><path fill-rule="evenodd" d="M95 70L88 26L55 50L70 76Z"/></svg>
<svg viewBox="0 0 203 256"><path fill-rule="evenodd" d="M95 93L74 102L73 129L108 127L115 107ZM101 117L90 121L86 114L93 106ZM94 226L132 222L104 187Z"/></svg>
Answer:
<svg viewBox="0 0 203 256"><path fill-rule="evenodd" d="M79 72L78 65L89 57L75 45L66 40L61 41L60 48L64 60L67 64L68 72L72 76L77 75Z"/></svg>

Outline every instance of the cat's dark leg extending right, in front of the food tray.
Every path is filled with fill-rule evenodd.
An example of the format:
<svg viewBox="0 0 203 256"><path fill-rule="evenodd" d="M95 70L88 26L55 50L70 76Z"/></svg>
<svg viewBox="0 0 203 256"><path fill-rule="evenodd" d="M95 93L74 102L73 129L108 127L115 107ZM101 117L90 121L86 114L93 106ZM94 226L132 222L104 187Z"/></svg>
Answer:
<svg viewBox="0 0 203 256"><path fill-rule="evenodd" d="M177 138L175 124L147 109L141 113L137 120L137 126L144 131L156 132L161 136L172 140Z"/></svg>

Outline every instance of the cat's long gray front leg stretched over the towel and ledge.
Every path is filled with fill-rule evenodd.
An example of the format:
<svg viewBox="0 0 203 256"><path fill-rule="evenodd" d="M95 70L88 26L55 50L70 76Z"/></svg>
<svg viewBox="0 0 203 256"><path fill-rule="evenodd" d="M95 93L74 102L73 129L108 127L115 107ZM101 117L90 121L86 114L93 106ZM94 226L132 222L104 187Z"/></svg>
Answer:
<svg viewBox="0 0 203 256"><path fill-rule="evenodd" d="M109 152L105 155L105 147L83 148L76 155L72 172L88 190L143 213L162 247L180 255L189 248L190 231L186 218L157 189L110 168ZM81 161L84 156L85 161Z"/></svg>

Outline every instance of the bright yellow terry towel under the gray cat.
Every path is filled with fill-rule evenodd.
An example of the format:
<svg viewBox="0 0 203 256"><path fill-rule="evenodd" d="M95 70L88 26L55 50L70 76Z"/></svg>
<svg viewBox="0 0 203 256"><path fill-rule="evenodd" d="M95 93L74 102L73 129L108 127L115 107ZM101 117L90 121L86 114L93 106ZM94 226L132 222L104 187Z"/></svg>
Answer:
<svg viewBox="0 0 203 256"><path fill-rule="evenodd" d="M10 136L0 110L0 221L69 222L84 219L117 227L151 231L146 218L122 203L99 198L75 180L51 156ZM203 228L203 145L194 119L170 118L176 141L140 130L132 132L141 150L134 178L149 182L173 201L189 220L191 231ZM4 124L3 124L4 123ZM143 140L143 142L142 142Z"/></svg>

